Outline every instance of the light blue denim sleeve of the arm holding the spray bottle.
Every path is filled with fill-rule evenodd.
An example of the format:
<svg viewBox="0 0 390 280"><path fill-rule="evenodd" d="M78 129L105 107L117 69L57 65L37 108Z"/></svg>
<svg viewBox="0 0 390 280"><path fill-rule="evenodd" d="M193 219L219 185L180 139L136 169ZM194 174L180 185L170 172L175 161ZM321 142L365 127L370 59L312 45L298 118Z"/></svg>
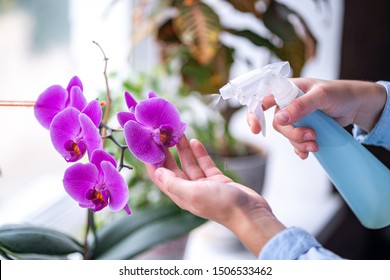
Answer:
<svg viewBox="0 0 390 280"><path fill-rule="evenodd" d="M377 83L384 86L387 91L387 100L383 113L373 130L369 133L355 125L353 135L362 144L382 146L390 150L390 82L379 81Z"/></svg>

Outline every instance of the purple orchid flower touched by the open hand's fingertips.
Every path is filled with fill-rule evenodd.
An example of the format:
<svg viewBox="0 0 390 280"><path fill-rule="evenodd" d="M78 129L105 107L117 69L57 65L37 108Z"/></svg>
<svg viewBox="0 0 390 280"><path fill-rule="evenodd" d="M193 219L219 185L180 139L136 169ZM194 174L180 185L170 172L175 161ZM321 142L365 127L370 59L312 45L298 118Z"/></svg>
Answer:
<svg viewBox="0 0 390 280"><path fill-rule="evenodd" d="M149 93L149 99L139 103L126 92L125 100L130 112L120 112L117 118L124 128L129 150L140 161L161 166L167 149L179 142L186 129L179 111L153 92Z"/></svg>

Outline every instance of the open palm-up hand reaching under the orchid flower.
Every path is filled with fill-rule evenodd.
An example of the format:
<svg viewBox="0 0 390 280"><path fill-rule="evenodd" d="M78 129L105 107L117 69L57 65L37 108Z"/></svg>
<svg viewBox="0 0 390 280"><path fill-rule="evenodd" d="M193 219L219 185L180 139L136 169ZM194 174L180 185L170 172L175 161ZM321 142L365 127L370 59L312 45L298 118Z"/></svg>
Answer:
<svg viewBox="0 0 390 280"><path fill-rule="evenodd" d="M147 165L153 182L178 206L232 230L255 255L284 226L255 191L225 176L198 140L177 145L182 168L171 154L164 167Z"/></svg>

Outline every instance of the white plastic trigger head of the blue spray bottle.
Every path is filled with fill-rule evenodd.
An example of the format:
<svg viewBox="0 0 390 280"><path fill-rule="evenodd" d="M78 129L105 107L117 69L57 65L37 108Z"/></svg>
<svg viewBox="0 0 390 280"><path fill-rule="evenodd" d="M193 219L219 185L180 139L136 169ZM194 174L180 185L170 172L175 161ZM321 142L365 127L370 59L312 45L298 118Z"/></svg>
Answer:
<svg viewBox="0 0 390 280"><path fill-rule="evenodd" d="M223 99L235 96L241 105L246 105L260 122L262 133L265 136L263 98L273 95L278 106L283 108L300 92L287 79L289 73L290 64L287 61L272 63L234 78L219 91Z"/></svg>

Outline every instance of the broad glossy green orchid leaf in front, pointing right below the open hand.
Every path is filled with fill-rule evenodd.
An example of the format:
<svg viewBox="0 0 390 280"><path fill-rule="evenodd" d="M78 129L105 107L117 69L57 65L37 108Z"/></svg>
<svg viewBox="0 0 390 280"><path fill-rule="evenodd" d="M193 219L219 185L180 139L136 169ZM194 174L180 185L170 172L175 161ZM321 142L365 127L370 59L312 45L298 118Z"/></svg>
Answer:
<svg viewBox="0 0 390 280"><path fill-rule="evenodd" d="M204 219L181 211L174 216L147 224L115 244L98 259L131 259L154 245L178 238L200 226Z"/></svg>

